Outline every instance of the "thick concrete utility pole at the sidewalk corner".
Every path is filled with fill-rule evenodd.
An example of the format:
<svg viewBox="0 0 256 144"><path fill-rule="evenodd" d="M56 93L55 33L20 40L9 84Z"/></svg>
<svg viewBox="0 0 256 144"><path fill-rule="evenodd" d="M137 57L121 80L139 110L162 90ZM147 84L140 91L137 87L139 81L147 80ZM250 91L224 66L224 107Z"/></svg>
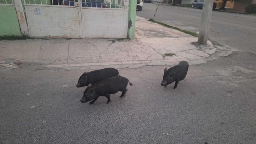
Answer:
<svg viewBox="0 0 256 144"><path fill-rule="evenodd" d="M207 44L212 11L213 0L205 0L203 3L203 14L201 18L201 24L199 27L198 43Z"/></svg>

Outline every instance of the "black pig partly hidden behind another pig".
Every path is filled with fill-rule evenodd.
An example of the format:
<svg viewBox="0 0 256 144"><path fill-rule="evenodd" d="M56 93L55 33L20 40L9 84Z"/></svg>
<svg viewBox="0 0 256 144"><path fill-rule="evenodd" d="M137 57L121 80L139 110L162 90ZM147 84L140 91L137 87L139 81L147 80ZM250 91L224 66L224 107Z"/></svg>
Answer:
<svg viewBox="0 0 256 144"><path fill-rule="evenodd" d="M104 68L91 72L85 72L79 77L76 86L84 87L88 86L90 83L93 85L101 80L117 75L119 75L119 72L117 69L114 68Z"/></svg>

